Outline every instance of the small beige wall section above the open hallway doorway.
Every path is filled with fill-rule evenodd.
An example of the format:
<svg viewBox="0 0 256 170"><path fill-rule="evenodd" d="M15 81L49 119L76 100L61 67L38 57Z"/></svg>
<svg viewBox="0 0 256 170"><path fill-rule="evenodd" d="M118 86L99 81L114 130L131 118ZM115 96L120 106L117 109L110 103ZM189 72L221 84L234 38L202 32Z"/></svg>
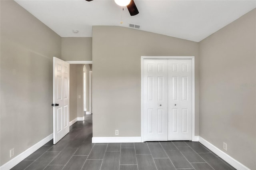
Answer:
<svg viewBox="0 0 256 170"><path fill-rule="evenodd" d="M61 47L64 61L92 61L91 37L62 37Z"/></svg>

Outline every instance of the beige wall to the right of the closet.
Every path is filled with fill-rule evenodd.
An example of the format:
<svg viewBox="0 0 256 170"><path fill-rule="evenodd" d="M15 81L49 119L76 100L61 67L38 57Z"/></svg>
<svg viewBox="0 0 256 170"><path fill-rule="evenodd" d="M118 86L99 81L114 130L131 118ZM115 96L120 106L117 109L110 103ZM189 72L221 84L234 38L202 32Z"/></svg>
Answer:
<svg viewBox="0 0 256 170"><path fill-rule="evenodd" d="M200 136L255 170L256 10L201 41L199 49Z"/></svg>

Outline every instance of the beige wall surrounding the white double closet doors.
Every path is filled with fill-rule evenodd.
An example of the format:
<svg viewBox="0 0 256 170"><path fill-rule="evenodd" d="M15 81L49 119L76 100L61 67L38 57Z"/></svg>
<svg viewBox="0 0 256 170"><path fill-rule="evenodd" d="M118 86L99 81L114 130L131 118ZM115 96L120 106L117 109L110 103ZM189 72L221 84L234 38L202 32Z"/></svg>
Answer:
<svg viewBox="0 0 256 170"><path fill-rule="evenodd" d="M118 26L94 26L92 40L93 136L140 136L140 57L195 56L198 135L198 43ZM104 128L102 128L104 127Z"/></svg>

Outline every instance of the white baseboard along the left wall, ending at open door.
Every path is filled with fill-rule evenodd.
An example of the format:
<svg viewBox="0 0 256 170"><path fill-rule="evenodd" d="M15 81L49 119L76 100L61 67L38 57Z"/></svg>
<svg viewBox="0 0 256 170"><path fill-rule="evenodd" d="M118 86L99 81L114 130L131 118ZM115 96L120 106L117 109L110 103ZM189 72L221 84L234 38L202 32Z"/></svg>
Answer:
<svg viewBox="0 0 256 170"><path fill-rule="evenodd" d="M1 170L10 170L11 168L13 168L15 165L17 165L18 163L20 163L22 160L24 160L26 157L28 157L30 154L32 154L33 152L35 152L36 150L38 150L40 147L42 147L44 144L46 144L47 142L49 142L50 140L52 140L53 138L53 134L50 134L49 136L47 136L46 138L40 140L39 142L37 142L36 144L34 144L33 146L31 146L30 148L28 148L27 150L25 150L24 152L18 154L17 156L15 156L14 158L12 158L11 160L9 160L8 162L6 162L5 164L3 164L0 169Z"/></svg>

